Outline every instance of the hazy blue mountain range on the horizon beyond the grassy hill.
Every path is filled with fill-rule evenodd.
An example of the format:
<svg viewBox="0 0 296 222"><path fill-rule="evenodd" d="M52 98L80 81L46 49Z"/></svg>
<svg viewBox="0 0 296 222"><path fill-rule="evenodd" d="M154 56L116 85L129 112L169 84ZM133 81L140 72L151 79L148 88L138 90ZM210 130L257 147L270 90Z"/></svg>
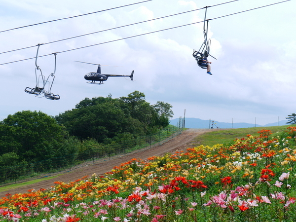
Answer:
<svg viewBox="0 0 296 222"><path fill-rule="evenodd" d="M171 119L170 124L177 126L179 118ZM213 124L214 121L214 124ZM286 120L282 120L275 123L268 123L264 126L283 126L286 125ZM245 122L236 122L236 123L228 123L228 122L218 122L214 119L211 120L203 120L198 118L185 118L185 127L193 128L193 129L209 129L213 128L222 128L222 129L237 129L237 128L250 128L250 127L260 127L261 125L255 123L245 123Z"/></svg>

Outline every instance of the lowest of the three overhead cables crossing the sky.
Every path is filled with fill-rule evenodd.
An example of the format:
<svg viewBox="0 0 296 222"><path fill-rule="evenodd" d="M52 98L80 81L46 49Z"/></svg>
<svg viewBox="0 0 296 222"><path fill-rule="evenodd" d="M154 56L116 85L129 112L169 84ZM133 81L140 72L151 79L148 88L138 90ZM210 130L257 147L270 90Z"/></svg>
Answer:
<svg viewBox="0 0 296 222"><path fill-rule="evenodd" d="M269 5L264 5L264 6L260 6L260 7L257 7L257 8L248 9L248 10L245 10L245 11L240 11L240 12L236 12L236 13L232 13L232 14L228 14L228 15L223 15L223 16L220 16L220 17L216 17L216 18L212 18L212 19L207 19L207 20L215 20L215 19L226 17L226 16L235 15L235 14L239 14L239 13L243 13L243 12L247 12L247 11L251 11L251 10L255 10L255 9L259 9L259 8L263 8L263 7L267 7L267 6L271 6L271 5L274 5L274 4L283 3L283 2L286 2L286 1L290 1L290 0L285 0L285 1L277 2L277 3L273 3L273 4L269 4ZM140 34L140 35L135 35L135 36L131 36L131 37L119 38L119 39L115 39L115 40L111 40L111 41L101 42L101 43L87 45L87 46L82 46L82 47L79 47L79 48L69 49L69 50L65 50L65 51L61 51L61 52L56 52L56 53L64 53L64 52L74 51L74 50L77 50L77 49L82 49L82 48L87 48L87 47L92 47L92 46L96 46L96 45L106 44L106 43L110 43L110 42L114 42L114 41L124 40L124 39L128 39L128 38L145 36L145 35L148 35L148 34L158 33L158 32L167 31L167 30L171 30L171 29L177 29L177 28L181 28L181 27L185 27L185 26L189 26L189 25L194 25L194 24L202 23L202 22L204 22L204 21L194 22L194 23L185 24L185 25L181 25L181 26L175 26L175 27L171 27L171 28L167 28L167 29L162 29L162 30L158 30L158 31L153 31L153 32L149 32L149 33L144 33L144 34ZM44 56L49 56L49 55L51 55L51 54L38 56L38 58L39 57L44 57ZM17 60L17 61L13 61L13 62L2 63L2 64L0 64L0 66L1 65L6 65L6 64L10 64L10 63L15 63L15 62L21 62L21 61L25 61L25 60L35 59L35 58L36 57L22 59L22 60Z"/></svg>

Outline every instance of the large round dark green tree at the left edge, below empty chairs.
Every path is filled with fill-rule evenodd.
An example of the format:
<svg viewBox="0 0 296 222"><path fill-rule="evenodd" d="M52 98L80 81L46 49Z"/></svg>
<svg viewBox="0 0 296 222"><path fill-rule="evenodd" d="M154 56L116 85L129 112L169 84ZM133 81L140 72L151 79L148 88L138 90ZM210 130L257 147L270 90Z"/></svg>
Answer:
<svg viewBox="0 0 296 222"><path fill-rule="evenodd" d="M2 121L3 128L9 129L10 136L1 135L4 149L10 144L20 160L27 162L44 160L55 155L65 137L65 129L54 118L41 111L19 111L8 115ZM9 142L10 137L13 142Z"/></svg>

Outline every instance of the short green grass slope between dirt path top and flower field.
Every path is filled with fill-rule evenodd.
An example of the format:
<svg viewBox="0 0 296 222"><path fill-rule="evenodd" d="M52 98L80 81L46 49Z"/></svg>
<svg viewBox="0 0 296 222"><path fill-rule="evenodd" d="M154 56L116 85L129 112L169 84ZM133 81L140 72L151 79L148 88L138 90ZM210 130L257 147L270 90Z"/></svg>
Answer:
<svg viewBox="0 0 296 222"><path fill-rule="evenodd" d="M270 130L272 132L271 136L274 137L284 132L289 126L296 126L296 125L225 129L225 130L208 132L198 136L194 140L193 146L204 145L204 146L212 147L215 144L229 144L229 143L232 143L235 139L246 137L248 134L253 136L259 136L258 132L262 129Z"/></svg>

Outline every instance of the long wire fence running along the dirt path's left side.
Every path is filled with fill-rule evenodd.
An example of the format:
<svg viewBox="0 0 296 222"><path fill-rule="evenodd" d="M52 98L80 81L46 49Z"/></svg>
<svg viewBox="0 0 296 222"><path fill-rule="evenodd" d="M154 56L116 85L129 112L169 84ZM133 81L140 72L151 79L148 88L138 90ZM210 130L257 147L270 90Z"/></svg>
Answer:
<svg viewBox="0 0 296 222"><path fill-rule="evenodd" d="M159 130L157 133L133 140L90 147L82 152L75 152L71 155L53 157L35 163L19 164L13 167L1 167L0 186L70 172L83 166L108 161L162 145L179 134L182 134L183 125L179 123L178 125L179 126L169 125L167 128Z"/></svg>

